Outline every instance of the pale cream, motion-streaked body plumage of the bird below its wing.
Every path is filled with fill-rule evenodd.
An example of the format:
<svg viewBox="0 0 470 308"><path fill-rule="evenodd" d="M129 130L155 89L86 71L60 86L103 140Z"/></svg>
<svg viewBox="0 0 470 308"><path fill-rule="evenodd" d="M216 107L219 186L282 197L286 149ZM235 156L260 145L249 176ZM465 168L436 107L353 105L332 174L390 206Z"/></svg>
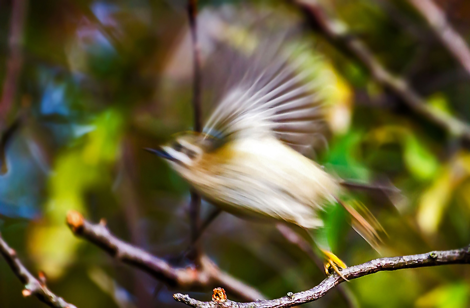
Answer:
<svg viewBox="0 0 470 308"><path fill-rule="evenodd" d="M213 162L216 176L197 181L200 191L238 214L259 213L306 228L322 226L317 212L334 202L334 178L272 137L240 138L226 146L221 150L233 154L230 163Z"/></svg>

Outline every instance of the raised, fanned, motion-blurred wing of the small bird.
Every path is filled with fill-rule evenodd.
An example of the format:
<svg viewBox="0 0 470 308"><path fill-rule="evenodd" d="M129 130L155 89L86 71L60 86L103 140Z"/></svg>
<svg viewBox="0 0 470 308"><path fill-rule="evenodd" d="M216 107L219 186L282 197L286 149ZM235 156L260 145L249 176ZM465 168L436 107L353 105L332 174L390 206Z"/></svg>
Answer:
<svg viewBox="0 0 470 308"><path fill-rule="evenodd" d="M284 39L238 52L221 43L215 51L219 57L208 58L215 69L227 62L231 67L219 74L227 87L206 122L206 134L221 138L270 134L301 153L326 143L319 83L311 79L305 56L281 48Z"/></svg>

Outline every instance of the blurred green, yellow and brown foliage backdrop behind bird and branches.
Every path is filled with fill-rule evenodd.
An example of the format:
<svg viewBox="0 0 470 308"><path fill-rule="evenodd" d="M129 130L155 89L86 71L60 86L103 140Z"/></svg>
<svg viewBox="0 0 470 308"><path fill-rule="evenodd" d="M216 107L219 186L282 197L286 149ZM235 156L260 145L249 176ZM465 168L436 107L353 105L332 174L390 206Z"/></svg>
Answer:
<svg viewBox="0 0 470 308"><path fill-rule="evenodd" d="M434 2L470 43L468 1ZM250 12L247 3L201 1L200 22L220 11L232 17ZM305 27L294 6L249 3L262 7L263 16L272 11L298 24L303 30L296 44L313 46L311 65L326 76L331 107L331 139L319 162L343 177L401 190L390 199L364 197L387 231L384 256L470 243L465 144L404 107L356 61ZM408 1L321 3L435 112L469 119L469 73ZM78 307L183 307L172 298L178 290L75 238L65 217L75 209L94 222L105 218L122 239L186 265L176 257L190 243L189 187L142 150L193 126L185 6L173 0L0 0L0 129L12 132L0 158L0 231L32 272L45 271L49 287ZM202 215L210 210L203 203ZM327 230L347 264L379 257L343 211L328 213ZM274 226L226 213L204 233L202 249L269 298L309 289L325 276ZM305 307L470 305L470 270L463 265L381 272L343 286ZM44 306L21 290L0 260L0 307ZM189 294L209 300L211 293Z"/></svg>

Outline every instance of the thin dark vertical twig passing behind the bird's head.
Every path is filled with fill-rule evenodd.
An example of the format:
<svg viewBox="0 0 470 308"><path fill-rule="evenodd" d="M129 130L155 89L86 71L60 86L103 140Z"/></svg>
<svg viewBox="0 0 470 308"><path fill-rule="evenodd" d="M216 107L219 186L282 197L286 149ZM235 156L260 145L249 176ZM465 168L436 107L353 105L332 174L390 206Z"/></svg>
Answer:
<svg viewBox="0 0 470 308"><path fill-rule="evenodd" d="M189 0L187 5L187 14L190 21L190 31L193 46L193 109L194 109L194 130L196 132L202 131L201 119L201 52L198 41L198 2L197 0ZM201 209L201 196L195 191L191 192L190 204L190 219L191 219L191 246L195 255L192 256L194 260L198 259L199 251L197 247L198 233L200 229L200 210ZM198 264L199 265L199 264Z"/></svg>

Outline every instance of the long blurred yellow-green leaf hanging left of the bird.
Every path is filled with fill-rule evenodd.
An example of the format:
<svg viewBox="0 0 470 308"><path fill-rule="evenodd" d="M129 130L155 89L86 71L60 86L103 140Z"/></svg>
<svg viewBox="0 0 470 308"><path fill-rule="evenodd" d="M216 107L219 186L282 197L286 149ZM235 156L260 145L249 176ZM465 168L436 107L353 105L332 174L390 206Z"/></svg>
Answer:
<svg viewBox="0 0 470 308"><path fill-rule="evenodd" d="M110 165L119 153L121 115L108 110L92 123L80 146L68 149L56 159L49 178L49 199L44 219L29 230L28 249L50 279L58 278L73 262L80 241L74 238L65 219L69 210L86 214L84 194L90 189L110 186Z"/></svg>

